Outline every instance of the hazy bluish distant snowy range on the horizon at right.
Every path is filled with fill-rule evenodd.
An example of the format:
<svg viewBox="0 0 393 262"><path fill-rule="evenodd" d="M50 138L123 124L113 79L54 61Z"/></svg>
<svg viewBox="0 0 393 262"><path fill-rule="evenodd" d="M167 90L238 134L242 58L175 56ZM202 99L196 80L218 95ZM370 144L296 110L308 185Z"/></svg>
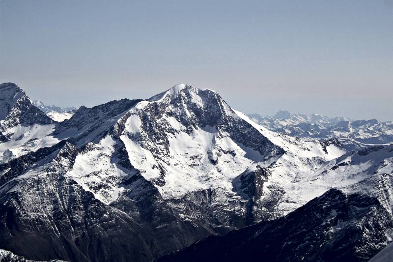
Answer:
<svg viewBox="0 0 393 262"><path fill-rule="evenodd" d="M393 122L376 119L353 120L317 114L292 114L279 111L275 116L248 115L256 123L275 132L294 137L337 138L345 144L389 144L393 142Z"/></svg>

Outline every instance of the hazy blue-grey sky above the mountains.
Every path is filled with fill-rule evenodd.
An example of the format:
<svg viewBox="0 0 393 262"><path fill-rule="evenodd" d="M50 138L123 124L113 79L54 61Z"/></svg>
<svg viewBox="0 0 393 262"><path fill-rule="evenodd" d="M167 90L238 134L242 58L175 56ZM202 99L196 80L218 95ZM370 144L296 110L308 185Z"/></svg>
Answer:
<svg viewBox="0 0 393 262"><path fill-rule="evenodd" d="M57 106L187 83L245 113L393 120L393 0L0 0L0 82Z"/></svg>

